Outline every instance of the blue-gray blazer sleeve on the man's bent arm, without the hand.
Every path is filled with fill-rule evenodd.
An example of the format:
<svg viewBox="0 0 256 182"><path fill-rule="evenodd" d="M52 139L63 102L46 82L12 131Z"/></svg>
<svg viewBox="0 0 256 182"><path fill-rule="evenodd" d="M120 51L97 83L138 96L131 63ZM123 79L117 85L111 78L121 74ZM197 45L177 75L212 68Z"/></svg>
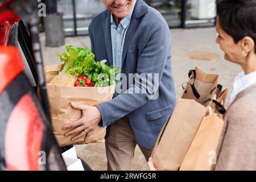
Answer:
<svg viewBox="0 0 256 182"><path fill-rule="evenodd" d="M148 42L144 46L141 55L138 58L137 73L134 76L134 84L130 86L126 92L119 94L113 100L98 105L101 112L102 122L101 127L108 126L117 119L124 117L147 103L152 97L157 97L159 83L162 79L164 67L168 56L171 56L171 37L170 30L167 24L161 24L152 29ZM171 63L170 63L171 64ZM141 73L156 73L158 79L152 78L152 81L141 78ZM155 92L152 92L154 86Z"/></svg>

